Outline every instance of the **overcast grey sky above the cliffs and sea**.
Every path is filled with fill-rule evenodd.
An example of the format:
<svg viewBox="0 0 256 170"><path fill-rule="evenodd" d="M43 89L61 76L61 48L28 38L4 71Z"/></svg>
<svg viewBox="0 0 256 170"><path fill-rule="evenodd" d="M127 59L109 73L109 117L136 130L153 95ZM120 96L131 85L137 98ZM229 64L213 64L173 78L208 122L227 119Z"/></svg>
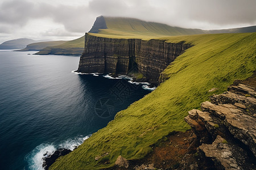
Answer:
<svg viewBox="0 0 256 170"><path fill-rule="evenodd" d="M0 43L72 40L97 16L125 16L184 28L256 25L256 0L0 0Z"/></svg>

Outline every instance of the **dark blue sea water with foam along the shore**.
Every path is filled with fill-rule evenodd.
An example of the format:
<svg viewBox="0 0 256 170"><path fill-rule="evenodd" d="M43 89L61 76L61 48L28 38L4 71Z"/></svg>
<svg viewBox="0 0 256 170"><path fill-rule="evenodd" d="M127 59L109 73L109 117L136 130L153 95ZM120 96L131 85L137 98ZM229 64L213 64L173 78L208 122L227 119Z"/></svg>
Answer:
<svg viewBox="0 0 256 170"><path fill-rule="evenodd" d="M150 91L79 75L79 57L0 50L0 169L41 169L43 154L73 149Z"/></svg>

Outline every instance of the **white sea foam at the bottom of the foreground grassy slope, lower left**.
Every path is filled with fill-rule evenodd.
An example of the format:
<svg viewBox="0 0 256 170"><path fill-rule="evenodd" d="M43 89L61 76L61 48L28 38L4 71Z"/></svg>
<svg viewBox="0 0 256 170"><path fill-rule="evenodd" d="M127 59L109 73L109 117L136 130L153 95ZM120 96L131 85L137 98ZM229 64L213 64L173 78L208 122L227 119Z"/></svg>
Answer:
<svg viewBox="0 0 256 170"><path fill-rule="evenodd" d="M28 162L28 169L32 170L43 170L43 158L52 155L57 148L67 148L69 150L74 150L77 146L81 145L90 135L85 137L77 137L75 139L68 139L60 143L59 145L54 145L53 143L42 143L32 150L28 155L26 155L26 160ZM46 155L44 155L46 154Z"/></svg>

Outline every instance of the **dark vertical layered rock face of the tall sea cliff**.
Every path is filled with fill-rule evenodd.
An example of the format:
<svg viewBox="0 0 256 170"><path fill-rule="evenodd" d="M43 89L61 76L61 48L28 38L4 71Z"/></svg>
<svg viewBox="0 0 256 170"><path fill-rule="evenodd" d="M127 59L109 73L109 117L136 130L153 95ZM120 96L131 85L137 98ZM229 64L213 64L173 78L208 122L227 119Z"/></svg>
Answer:
<svg viewBox="0 0 256 170"><path fill-rule="evenodd" d="M85 49L77 72L140 73L148 82L158 83L160 73L192 45L164 40L110 39L86 33Z"/></svg>

